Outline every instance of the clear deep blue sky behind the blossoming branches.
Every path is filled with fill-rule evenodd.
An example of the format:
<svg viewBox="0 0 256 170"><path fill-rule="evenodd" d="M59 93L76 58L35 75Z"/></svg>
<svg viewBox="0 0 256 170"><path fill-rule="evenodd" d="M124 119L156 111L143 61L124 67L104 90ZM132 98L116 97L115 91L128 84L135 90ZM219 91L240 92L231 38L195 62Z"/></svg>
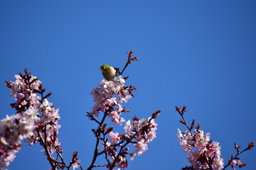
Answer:
<svg viewBox="0 0 256 170"><path fill-rule="evenodd" d="M60 108L59 139L68 161L79 151L83 169L92 160L95 124L85 116L92 91L102 80L100 65L130 65L127 85L137 87L126 104L147 118L160 109L157 137L128 169L181 169L189 165L178 144L175 106L188 108L204 132L220 142L225 164L256 142L255 1L0 1L0 118L15 113L4 80L27 67L53 92ZM21 151L9 169L49 169L40 145ZM254 169L255 149L240 159ZM100 169L100 168L98 168ZM102 168L105 169L105 168Z"/></svg>

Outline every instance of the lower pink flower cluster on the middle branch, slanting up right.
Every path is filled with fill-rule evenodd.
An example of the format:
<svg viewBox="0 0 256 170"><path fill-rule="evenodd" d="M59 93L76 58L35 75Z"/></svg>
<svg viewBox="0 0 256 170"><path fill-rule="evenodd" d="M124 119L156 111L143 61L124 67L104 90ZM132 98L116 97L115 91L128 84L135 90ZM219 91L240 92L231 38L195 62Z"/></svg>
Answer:
<svg viewBox="0 0 256 170"><path fill-rule="evenodd" d="M127 154L129 154L130 160L133 160L136 155L140 155L145 152L148 148L147 145L149 142L156 138L156 126L157 124L154 122L154 118L146 118L139 120L137 117L133 118L133 123L131 125L131 121L128 120L124 126L124 135L119 134L118 132L110 132L110 142L103 143L103 152L107 152L110 157L114 167L117 166L119 168L127 168ZM125 143L124 143L125 142ZM136 150L132 153L129 153L129 147L126 147L128 144L133 143L133 147ZM119 153L117 152L117 147L121 147ZM108 169L111 169L110 164L107 165Z"/></svg>

